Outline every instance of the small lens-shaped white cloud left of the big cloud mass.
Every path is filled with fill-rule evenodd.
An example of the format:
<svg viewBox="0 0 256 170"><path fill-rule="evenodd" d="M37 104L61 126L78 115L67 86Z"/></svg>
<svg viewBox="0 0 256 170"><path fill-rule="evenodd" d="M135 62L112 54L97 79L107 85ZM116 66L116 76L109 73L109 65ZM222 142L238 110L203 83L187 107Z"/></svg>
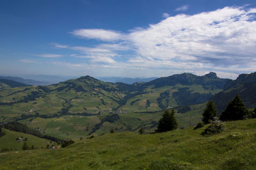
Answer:
<svg viewBox="0 0 256 170"><path fill-rule="evenodd" d="M97 39L102 41L115 41L123 39L123 35L121 33L105 29L76 29L72 31L71 34L81 38Z"/></svg>

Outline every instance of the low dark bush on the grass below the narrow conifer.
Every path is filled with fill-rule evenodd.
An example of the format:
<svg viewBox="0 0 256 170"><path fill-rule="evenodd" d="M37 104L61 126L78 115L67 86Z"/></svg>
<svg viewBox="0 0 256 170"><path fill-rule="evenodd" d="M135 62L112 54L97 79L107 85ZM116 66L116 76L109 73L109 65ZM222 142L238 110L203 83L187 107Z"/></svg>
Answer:
<svg viewBox="0 0 256 170"><path fill-rule="evenodd" d="M201 135L220 134L220 132L222 132L223 130L225 130L225 125L216 118L214 121L212 121L209 127L205 128Z"/></svg>

